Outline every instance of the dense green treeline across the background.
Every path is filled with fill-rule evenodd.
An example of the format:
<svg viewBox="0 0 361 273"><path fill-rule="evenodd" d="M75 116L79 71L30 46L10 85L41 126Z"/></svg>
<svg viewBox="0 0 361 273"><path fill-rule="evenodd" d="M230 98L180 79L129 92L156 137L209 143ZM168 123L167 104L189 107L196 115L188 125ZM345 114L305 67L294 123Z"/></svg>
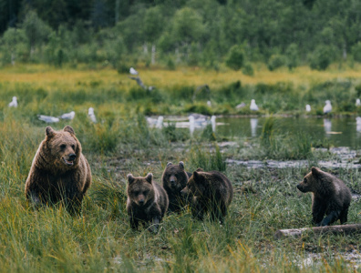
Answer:
<svg viewBox="0 0 361 273"><path fill-rule="evenodd" d="M0 0L2 64L361 62L358 0Z"/></svg>

